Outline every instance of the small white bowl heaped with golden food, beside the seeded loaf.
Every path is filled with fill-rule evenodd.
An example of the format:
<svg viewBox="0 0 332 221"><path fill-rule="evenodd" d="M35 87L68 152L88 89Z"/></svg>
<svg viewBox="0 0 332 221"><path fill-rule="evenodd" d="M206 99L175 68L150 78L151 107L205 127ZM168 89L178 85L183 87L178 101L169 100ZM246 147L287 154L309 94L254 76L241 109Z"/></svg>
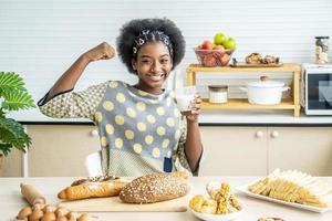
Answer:
<svg viewBox="0 0 332 221"><path fill-rule="evenodd" d="M201 220L235 220L243 211L241 203L230 191L227 182L209 182L206 186L208 197L196 194L189 201L191 212Z"/></svg>

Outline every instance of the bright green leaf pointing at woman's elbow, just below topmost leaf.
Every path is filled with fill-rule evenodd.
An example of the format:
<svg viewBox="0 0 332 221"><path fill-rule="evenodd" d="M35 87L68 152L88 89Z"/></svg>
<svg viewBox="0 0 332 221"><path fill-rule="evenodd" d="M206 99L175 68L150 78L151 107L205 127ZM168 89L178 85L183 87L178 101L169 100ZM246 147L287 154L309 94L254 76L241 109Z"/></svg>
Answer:
<svg viewBox="0 0 332 221"><path fill-rule="evenodd" d="M28 109L35 107L30 94L25 91L11 91L10 93L3 93L4 101L2 102L2 108L8 110Z"/></svg>

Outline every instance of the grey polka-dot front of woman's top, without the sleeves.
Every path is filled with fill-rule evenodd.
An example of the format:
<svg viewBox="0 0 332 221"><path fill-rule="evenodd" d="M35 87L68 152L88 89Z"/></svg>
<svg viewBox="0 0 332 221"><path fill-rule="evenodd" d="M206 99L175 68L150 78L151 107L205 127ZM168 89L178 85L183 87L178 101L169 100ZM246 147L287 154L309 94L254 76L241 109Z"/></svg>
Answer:
<svg viewBox="0 0 332 221"><path fill-rule="evenodd" d="M152 95L111 81L94 120L101 146L108 149L108 173L135 176L137 171L174 170L169 161L177 154L174 147L180 138L181 115L168 91Z"/></svg>

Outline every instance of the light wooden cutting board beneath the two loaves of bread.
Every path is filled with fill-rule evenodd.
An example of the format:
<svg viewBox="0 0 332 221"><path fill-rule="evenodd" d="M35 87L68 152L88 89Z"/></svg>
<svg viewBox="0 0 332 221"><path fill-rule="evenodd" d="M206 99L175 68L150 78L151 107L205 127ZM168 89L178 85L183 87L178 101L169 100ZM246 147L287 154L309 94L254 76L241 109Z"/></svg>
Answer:
<svg viewBox="0 0 332 221"><path fill-rule="evenodd" d="M62 201L59 206L76 212L185 212L188 203L189 194L148 204L124 203L118 197L110 197Z"/></svg>

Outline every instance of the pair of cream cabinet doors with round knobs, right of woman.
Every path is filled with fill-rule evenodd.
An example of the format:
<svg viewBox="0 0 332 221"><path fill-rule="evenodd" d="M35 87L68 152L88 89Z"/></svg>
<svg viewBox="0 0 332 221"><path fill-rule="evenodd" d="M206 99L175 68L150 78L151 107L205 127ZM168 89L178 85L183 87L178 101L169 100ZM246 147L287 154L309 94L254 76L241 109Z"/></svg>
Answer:
<svg viewBox="0 0 332 221"><path fill-rule="evenodd" d="M200 127L200 176L260 176L276 168L332 176L332 127Z"/></svg>

